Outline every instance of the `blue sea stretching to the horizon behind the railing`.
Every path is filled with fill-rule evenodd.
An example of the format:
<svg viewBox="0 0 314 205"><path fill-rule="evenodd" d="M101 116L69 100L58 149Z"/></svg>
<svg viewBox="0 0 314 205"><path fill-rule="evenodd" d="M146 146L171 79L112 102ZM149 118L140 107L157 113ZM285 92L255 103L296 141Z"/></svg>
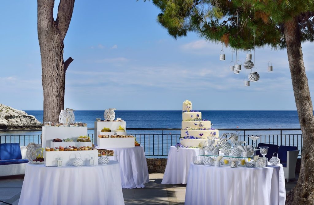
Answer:
<svg viewBox="0 0 314 205"><path fill-rule="evenodd" d="M26 110L30 115L34 115L36 119L42 122L42 110ZM298 129L300 128L297 111L203 111L202 118L208 119L213 124L215 129ZM182 111L124 111L116 110L116 117L126 121L127 128L178 128L181 129ZM87 123L88 128L94 127L96 118L103 119L103 110L78 110L74 112L75 121ZM224 132L220 130L221 135ZM94 134L94 130L88 130L89 134ZM168 148L175 145L179 141L180 130L127 130L128 134L136 135L137 141L145 147L146 155L167 155ZM0 135L40 135L41 131L32 132L5 132ZM146 134L146 135L139 135ZM163 135L162 135L163 134ZM244 131L240 131L243 135ZM280 145L294 145L301 147L300 130L282 131L284 136L281 141L280 131L261 130L261 131L246 131L246 135L264 135L257 143L277 143ZM289 134L295 134L290 135ZM299 134L299 136L297 136ZM165 136L167 135L167 136ZM66 136L64 136L66 137ZM35 138L35 137L34 137ZM2 137L3 139L3 137ZM16 137L17 139L17 137ZM38 137L36 138L38 140ZM32 137L30 141L32 140ZM241 139L243 140L243 139ZM247 137L244 140L248 140ZM6 139L8 141L8 138ZM36 140L35 140L36 141ZM25 142L26 143L26 142ZM27 143L26 143L27 144ZM252 144L252 141L249 142Z"/></svg>

